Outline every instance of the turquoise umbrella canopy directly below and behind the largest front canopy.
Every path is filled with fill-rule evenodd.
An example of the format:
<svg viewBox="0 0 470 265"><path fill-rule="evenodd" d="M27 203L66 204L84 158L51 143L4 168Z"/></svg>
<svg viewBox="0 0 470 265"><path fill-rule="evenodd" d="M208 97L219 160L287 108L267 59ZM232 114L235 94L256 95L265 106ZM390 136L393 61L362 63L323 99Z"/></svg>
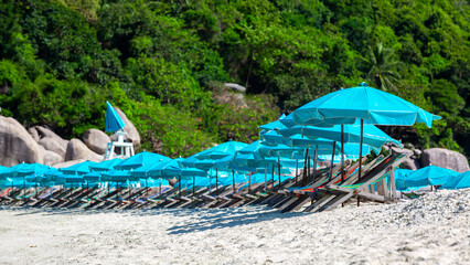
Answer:
<svg viewBox="0 0 470 265"><path fill-rule="evenodd" d="M344 142L361 142L361 123L356 121L352 125L343 126L343 139ZM316 126L295 126L291 128L280 129L279 134L285 137L293 135L302 135L308 138L325 138L341 142L341 125L334 125L333 127L316 127ZM393 139L383 130L378 129L375 125L364 125L363 130L363 144L380 149L385 142L395 142L400 145L399 141Z"/></svg>

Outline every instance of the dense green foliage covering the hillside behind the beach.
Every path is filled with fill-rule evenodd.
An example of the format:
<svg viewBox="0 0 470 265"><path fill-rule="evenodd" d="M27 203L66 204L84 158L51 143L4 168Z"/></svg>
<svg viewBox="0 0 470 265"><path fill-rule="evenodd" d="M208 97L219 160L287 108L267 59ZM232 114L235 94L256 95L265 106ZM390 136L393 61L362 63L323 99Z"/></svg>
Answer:
<svg viewBox="0 0 470 265"><path fill-rule="evenodd" d="M366 81L444 117L387 132L469 155L469 18L462 0L6 0L1 115L81 137L109 100L175 157Z"/></svg>

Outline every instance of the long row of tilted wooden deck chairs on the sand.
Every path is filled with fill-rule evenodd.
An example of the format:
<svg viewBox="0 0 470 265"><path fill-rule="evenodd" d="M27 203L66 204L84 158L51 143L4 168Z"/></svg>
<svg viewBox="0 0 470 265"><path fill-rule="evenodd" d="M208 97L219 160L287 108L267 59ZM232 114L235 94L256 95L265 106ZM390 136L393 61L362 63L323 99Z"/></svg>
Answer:
<svg viewBox="0 0 470 265"><path fill-rule="evenodd" d="M0 204L63 209L157 209L157 208L234 208L267 205L280 212L321 212L332 210L352 198L387 202L394 200L393 168L405 157L377 157L362 167L359 162L320 170L305 169L300 176L279 183L236 183L216 189L174 188L6 188ZM391 178L392 177L392 178ZM388 181L387 181L388 179Z"/></svg>

